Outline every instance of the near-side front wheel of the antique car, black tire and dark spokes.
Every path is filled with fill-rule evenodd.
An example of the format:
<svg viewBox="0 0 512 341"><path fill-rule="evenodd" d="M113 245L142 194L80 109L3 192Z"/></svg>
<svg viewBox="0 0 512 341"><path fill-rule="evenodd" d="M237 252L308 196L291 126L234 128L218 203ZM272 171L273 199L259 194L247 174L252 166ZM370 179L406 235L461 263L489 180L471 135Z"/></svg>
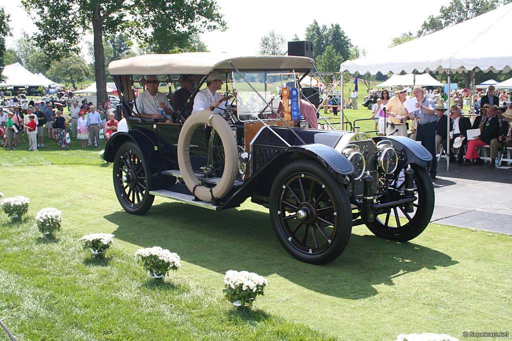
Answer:
<svg viewBox="0 0 512 341"><path fill-rule="evenodd" d="M306 212L306 217L298 218L299 210ZM345 188L322 166L307 161L288 164L274 179L270 219L290 255L317 265L335 260L352 232Z"/></svg>

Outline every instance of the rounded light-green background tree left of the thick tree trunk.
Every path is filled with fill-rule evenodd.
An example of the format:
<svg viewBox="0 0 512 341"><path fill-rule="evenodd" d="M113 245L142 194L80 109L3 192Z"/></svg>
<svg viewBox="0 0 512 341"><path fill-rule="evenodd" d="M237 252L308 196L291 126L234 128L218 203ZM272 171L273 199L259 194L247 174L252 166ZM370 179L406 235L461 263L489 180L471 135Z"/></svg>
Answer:
<svg viewBox="0 0 512 341"><path fill-rule="evenodd" d="M54 61L47 76L56 82L70 82L74 87L75 82L83 81L88 74L86 61L80 56L72 55L60 61Z"/></svg>

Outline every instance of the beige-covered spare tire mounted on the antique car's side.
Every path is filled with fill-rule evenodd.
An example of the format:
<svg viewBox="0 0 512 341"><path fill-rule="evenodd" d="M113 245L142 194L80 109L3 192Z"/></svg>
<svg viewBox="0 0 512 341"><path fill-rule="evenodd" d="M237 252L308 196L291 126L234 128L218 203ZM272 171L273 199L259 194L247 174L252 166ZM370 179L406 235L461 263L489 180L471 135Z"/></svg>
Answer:
<svg viewBox="0 0 512 341"><path fill-rule="evenodd" d="M190 140L196 128L203 124L209 124L217 131L224 147L224 171L220 182L211 189L200 186L200 182L190 164ZM237 177L238 151L234 134L222 116L209 110L201 110L194 112L187 118L178 138L178 166L185 185L199 199L212 201L214 198L226 196Z"/></svg>

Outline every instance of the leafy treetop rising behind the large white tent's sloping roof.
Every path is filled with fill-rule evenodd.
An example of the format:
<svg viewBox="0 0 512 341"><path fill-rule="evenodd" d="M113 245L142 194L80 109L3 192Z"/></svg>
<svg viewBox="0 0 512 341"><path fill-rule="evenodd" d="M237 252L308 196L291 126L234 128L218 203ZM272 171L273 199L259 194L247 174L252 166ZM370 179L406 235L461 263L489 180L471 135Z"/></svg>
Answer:
<svg viewBox="0 0 512 341"><path fill-rule="evenodd" d="M498 0L452 0L449 6L441 6L438 16L429 16L421 25L418 36L424 36L459 22L487 13L498 7Z"/></svg>

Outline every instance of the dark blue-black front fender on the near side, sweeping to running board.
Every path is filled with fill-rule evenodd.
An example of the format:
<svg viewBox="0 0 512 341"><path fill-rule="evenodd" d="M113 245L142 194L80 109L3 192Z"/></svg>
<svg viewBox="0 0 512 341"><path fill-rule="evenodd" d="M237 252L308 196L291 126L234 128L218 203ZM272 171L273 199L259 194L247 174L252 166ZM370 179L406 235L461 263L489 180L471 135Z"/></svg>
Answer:
<svg viewBox="0 0 512 341"><path fill-rule="evenodd" d="M220 209L238 207L253 193L269 196L276 174L287 164L304 160L316 162L319 167L324 167L342 186L347 187L354 180L354 165L345 155L332 147L322 144L285 147L276 151L252 173Z"/></svg>

